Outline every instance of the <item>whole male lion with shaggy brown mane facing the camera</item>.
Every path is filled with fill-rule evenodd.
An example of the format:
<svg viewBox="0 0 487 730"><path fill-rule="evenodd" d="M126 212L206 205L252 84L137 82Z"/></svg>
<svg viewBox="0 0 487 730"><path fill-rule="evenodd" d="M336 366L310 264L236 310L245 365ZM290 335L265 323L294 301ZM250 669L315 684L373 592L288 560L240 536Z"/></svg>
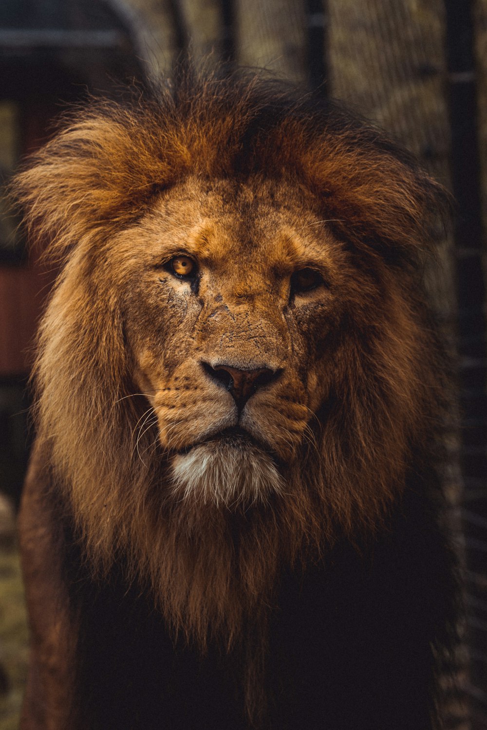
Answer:
<svg viewBox="0 0 487 730"><path fill-rule="evenodd" d="M454 645L448 194L262 75L93 101L15 182L34 367L23 730L426 730Z"/></svg>

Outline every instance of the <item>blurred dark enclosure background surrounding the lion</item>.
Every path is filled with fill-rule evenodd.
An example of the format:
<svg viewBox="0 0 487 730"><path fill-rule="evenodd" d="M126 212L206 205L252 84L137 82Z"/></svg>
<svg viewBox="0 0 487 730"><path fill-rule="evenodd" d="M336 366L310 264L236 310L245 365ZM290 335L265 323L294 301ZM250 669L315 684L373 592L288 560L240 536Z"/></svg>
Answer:
<svg viewBox="0 0 487 730"><path fill-rule="evenodd" d="M31 343L55 272L28 255L2 193L87 92L170 77L178 58L264 66L377 121L456 196L425 272L453 352L459 427L445 483L464 555L467 625L448 729L487 729L487 0L1 0L0 730L18 726L27 661L15 511L31 433ZM350 729L352 730L352 729ZM377 729L394 730L394 729Z"/></svg>

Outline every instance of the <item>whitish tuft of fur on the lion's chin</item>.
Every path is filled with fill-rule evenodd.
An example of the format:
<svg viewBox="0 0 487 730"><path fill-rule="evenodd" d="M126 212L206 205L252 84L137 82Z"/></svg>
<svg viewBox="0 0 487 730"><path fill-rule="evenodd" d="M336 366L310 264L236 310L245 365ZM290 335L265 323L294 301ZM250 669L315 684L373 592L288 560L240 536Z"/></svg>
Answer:
<svg viewBox="0 0 487 730"><path fill-rule="evenodd" d="M176 499L226 507L266 502L269 494L283 488L274 461L264 451L218 440L175 456L172 483Z"/></svg>

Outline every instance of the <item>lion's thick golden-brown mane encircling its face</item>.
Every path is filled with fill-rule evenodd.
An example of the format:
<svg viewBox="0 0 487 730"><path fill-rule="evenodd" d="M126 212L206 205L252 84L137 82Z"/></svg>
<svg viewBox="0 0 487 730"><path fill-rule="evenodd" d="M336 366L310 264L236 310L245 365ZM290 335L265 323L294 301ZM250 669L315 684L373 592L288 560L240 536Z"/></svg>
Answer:
<svg viewBox="0 0 487 730"><path fill-rule="evenodd" d="M155 427L139 429L147 403L131 381L125 272L104 266L118 232L190 175L260 175L310 191L357 263L334 387L282 494L234 510L164 489ZM265 626L282 566L388 529L410 475L433 469L444 413L421 272L446 195L410 155L340 107L259 77L186 77L75 112L16 194L31 237L62 266L39 334L35 418L93 575L122 556L175 634L231 645L242 626Z"/></svg>

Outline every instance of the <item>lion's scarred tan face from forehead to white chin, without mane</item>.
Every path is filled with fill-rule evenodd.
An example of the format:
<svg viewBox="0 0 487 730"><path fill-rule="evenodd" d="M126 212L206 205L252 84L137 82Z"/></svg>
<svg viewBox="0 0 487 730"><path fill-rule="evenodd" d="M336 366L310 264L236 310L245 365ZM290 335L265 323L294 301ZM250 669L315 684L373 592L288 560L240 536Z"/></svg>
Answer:
<svg viewBox="0 0 487 730"><path fill-rule="evenodd" d="M311 434L346 268L311 206L283 183L193 179L117 241L134 380L186 496L264 498Z"/></svg>

